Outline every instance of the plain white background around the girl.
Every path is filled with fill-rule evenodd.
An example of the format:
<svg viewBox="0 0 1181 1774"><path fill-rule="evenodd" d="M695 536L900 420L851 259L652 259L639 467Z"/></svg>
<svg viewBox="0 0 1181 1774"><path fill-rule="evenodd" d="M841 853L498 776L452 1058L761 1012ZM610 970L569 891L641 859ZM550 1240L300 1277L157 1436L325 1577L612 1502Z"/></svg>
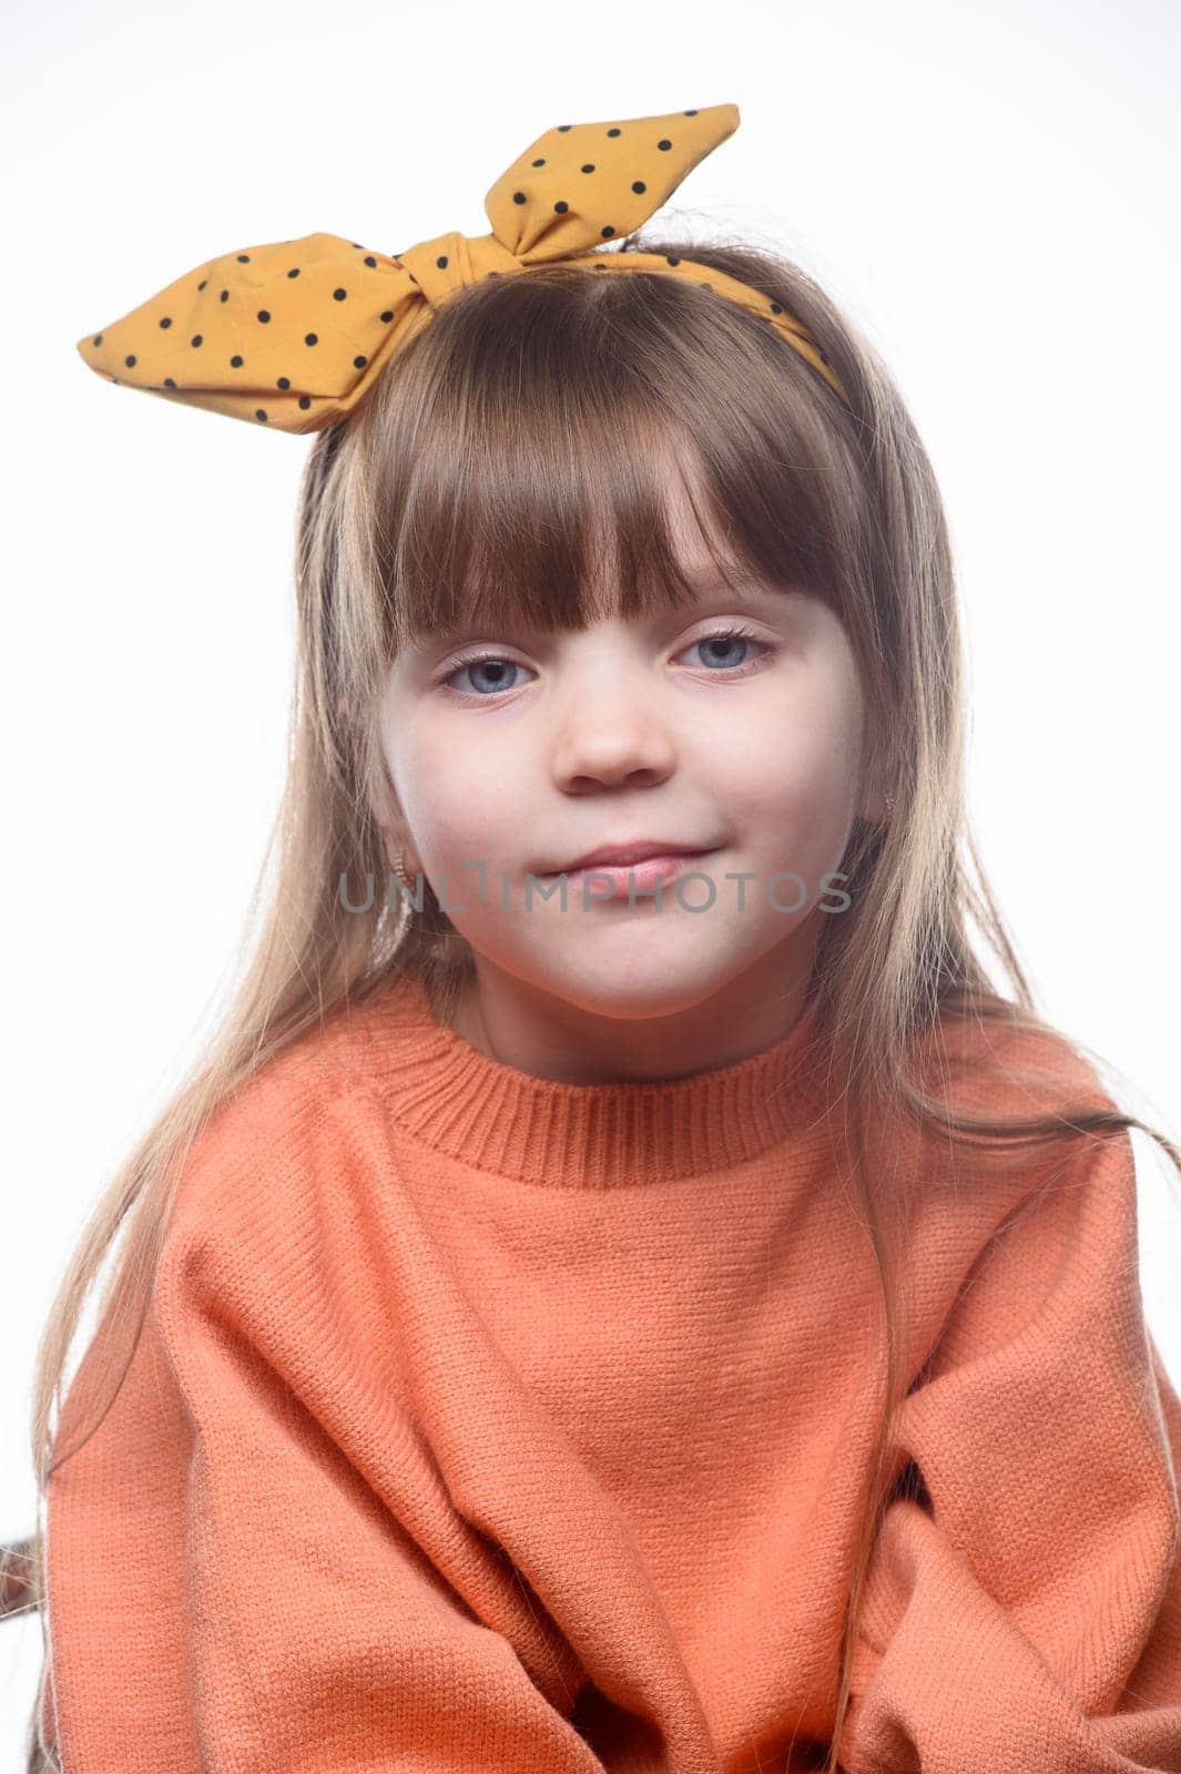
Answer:
<svg viewBox="0 0 1181 1774"><path fill-rule="evenodd" d="M557 122L736 103L661 218L789 252L885 353L950 516L984 866L1044 1013L1176 1141L1179 37L1169 0L9 7L0 1540L34 1526L67 1251L243 928L309 449L74 341L245 243L486 232ZM1137 1142L1181 1377L1181 1183ZM0 1623L0 1774L39 1659L35 1621Z"/></svg>

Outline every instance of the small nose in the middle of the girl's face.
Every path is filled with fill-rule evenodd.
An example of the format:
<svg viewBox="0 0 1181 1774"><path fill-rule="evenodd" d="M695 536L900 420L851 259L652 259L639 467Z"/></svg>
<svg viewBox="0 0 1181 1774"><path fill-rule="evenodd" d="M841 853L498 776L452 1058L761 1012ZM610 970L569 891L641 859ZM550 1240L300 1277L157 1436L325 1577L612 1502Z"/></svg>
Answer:
<svg viewBox="0 0 1181 1774"><path fill-rule="evenodd" d="M557 715L551 772L559 788L578 793L621 782L663 782L676 766L676 742L661 717L653 683L626 669L585 679Z"/></svg>

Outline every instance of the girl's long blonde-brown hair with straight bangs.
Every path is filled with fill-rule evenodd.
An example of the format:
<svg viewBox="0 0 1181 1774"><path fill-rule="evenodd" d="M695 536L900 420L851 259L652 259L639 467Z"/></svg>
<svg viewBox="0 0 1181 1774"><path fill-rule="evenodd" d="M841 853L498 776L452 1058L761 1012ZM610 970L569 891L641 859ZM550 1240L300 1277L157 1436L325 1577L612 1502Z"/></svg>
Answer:
<svg viewBox="0 0 1181 1774"><path fill-rule="evenodd" d="M913 1469L899 1478L887 1464L887 1428L908 1375L901 1288L867 1181L871 1103L901 1105L949 1151L956 1141L1053 1142L1138 1126L1179 1171L1181 1157L1107 1102L988 1118L952 1109L917 1077L915 1038L933 1034L938 1045L952 1020L1034 1031L1080 1052L1037 1015L966 830L956 585L929 459L872 348L798 266L750 245L633 236L619 250L633 248L695 259L782 303L819 341L849 408L770 326L708 289L642 271L546 266L461 291L388 364L369 401L316 436L298 513L289 773L239 983L216 1038L99 1199L48 1315L34 1377L37 1495L41 1504L51 1474L115 1398L184 1157L222 1098L395 967L422 979L440 1020L472 979L472 951L429 883L411 917L381 892L367 912L342 905L342 876L387 875L376 706L395 651L477 603L491 628L518 610L539 626L583 626L599 608L592 585L605 545L624 614L679 601L688 587L658 479L672 440L727 559L839 614L894 793L888 823L855 821L842 860L849 908L825 921L814 976L881 1277L885 1357L848 1574L832 1774L880 1515L899 1487L920 1483ZM972 930L1000 960L1009 997L989 983ZM106 1401L67 1439L60 1419L51 1425L53 1407L80 1313L121 1229L99 1320ZM43 1605L41 1524L32 1547L32 1605ZM30 1769L35 1756L34 1715Z"/></svg>

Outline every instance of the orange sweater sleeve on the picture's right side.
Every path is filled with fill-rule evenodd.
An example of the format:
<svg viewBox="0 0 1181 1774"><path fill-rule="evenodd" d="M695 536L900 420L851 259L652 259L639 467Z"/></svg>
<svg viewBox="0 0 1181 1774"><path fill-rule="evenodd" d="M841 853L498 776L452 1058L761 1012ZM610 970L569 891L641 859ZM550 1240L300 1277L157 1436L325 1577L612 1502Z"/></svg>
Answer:
<svg viewBox="0 0 1181 1774"><path fill-rule="evenodd" d="M1126 1130L1011 1212L897 1444L849 1774L1181 1769L1181 1405L1144 1320Z"/></svg>

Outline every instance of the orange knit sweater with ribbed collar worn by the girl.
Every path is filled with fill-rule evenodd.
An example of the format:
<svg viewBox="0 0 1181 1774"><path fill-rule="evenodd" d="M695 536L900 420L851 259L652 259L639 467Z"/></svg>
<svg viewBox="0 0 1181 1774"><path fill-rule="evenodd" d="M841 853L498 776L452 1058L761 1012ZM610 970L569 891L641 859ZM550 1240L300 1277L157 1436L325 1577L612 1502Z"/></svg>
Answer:
<svg viewBox="0 0 1181 1774"><path fill-rule="evenodd" d="M1046 1102L1110 1100L1000 1040ZM718 1071L557 1084L397 981L222 1103L50 1485L66 1774L816 1767L881 1378L823 1050L809 1009ZM842 1767L1181 1769L1128 1135L952 1167L883 1121L874 1169L917 1206L924 1490L876 1540Z"/></svg>

